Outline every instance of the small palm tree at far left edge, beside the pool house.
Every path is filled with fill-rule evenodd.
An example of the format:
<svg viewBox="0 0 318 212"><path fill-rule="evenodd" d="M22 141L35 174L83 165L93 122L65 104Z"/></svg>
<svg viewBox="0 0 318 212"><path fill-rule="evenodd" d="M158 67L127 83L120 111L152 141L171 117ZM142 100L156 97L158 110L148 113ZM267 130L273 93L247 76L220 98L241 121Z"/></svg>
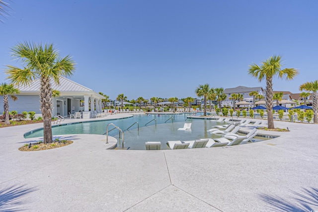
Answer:
<svg viewBox="0 0 318 212"><path fill-rule="evenodd" d="M8 95L11 95L11 99L16 101L18 97L13 94L18 94L19 89L15 88L13 84L1 83L0 84L0 96L3 96L3 109L4 109L4 124L10 124L9 119L9 98Z"/></svg>

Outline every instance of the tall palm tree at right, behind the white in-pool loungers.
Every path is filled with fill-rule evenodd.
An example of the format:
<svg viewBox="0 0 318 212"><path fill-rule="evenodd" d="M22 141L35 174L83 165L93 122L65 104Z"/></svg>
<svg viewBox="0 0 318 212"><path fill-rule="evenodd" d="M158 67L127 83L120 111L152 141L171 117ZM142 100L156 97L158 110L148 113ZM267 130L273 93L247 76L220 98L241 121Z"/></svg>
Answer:
<svg viewBox="0 0 318 212"><path fill-rule="evenodd" d="M257 78L259 82L266 79L266 109L267 109L267 123L269 129L274 129L273 120L273 77L278 75L279 78L286 78L286 80L293 79L298 71L296 69L281 70L281 56L272 56L266 61L262 62L259 67L256 64L249 65L248 74Z"/></svg>

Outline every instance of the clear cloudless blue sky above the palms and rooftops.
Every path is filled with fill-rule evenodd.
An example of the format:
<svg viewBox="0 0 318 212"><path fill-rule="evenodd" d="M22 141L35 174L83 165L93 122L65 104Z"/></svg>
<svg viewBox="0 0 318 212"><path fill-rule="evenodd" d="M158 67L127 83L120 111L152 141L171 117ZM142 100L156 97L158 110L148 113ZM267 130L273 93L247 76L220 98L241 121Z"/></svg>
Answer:
<svg viewBox="0 0 318 212"><path fill-rule="evenodd" d="M274 90L318 79L317 0L6 1L1 69L20 66L10 57L18 42L53 43L77 63L71 80L111 99L196 97L205 83L265 88L248 65L275 54L299 75L275 78Z"/></svg>

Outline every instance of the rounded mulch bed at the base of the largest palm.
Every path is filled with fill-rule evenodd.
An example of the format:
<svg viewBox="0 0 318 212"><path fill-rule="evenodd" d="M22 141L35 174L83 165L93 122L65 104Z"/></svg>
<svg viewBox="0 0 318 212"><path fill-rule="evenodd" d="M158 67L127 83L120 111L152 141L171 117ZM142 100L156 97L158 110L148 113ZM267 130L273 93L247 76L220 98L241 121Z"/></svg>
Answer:
<svg viewBox="0 0 318 212"><path fill-rule="evenodd" d="M46 149L52 149L52 148L59 148L62 146L67 146L73 143L73 141L69 140L63 140L63 141L54 141L52 143L43 143L42 141L31 143L31 146L29 147L29 143L26 143L22 147L19 148L20 151L40 151L40 150L46 150Z"/></svg>

